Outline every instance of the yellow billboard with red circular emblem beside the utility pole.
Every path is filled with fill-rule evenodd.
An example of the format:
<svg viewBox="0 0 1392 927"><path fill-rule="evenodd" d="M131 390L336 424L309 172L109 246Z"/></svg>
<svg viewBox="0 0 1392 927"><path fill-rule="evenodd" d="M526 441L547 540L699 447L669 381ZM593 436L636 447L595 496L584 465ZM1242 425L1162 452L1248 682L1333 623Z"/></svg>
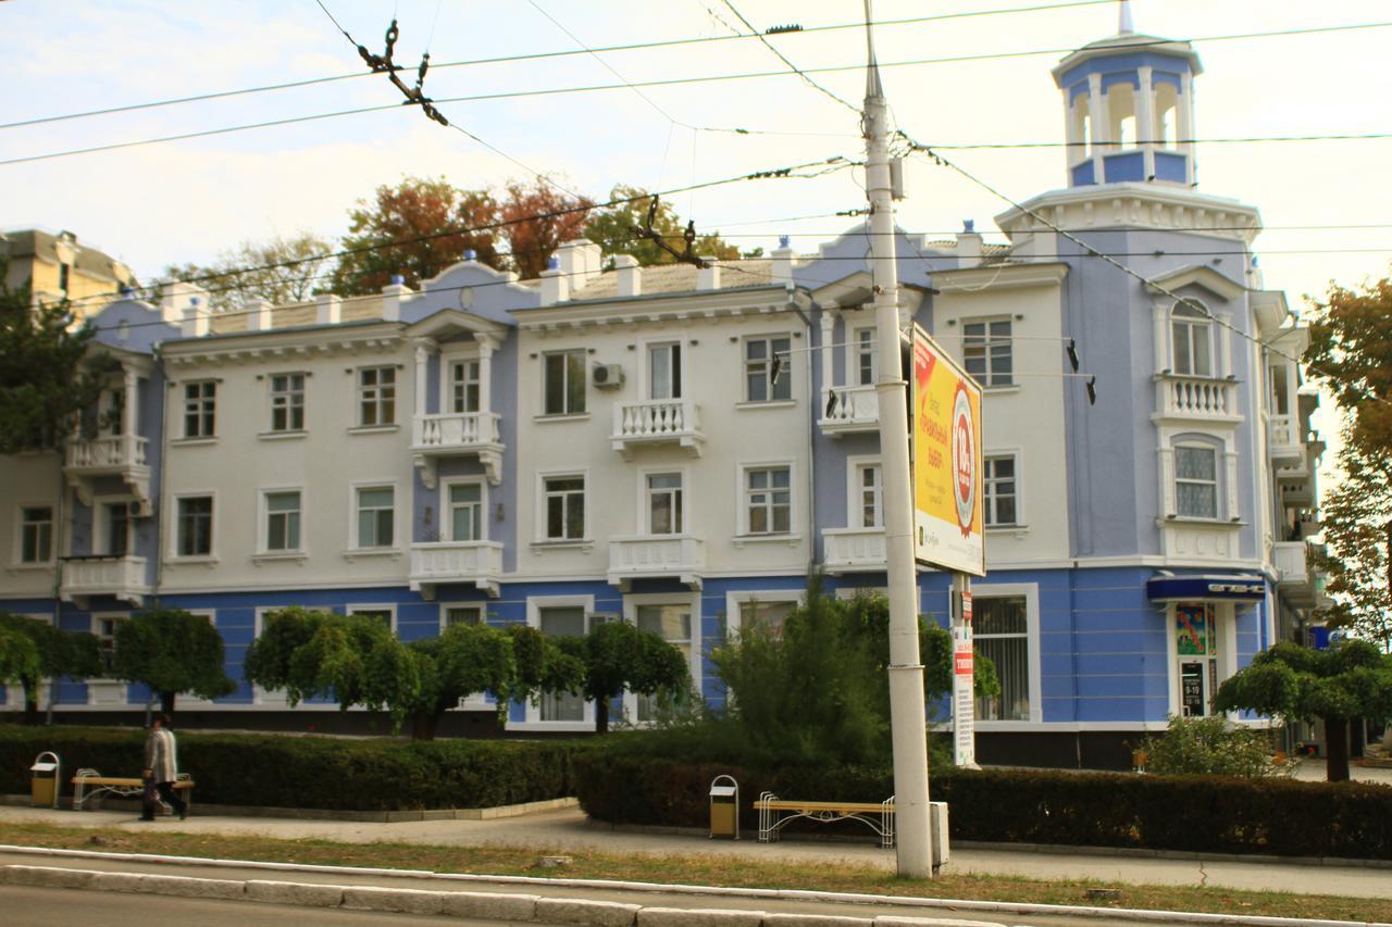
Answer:
<svg viewBox="0 0 1392 927"><path fill-rule="evenodd" d="M981 387L913 327L913 555L986 576Z"/></svg>

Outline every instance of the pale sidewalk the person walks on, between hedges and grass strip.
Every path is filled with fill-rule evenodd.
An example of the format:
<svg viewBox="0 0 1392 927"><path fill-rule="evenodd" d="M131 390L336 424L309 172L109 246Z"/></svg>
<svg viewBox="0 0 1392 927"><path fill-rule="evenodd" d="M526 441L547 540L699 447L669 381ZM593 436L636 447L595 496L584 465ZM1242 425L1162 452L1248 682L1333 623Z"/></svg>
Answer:
<svg viewBox="0 0 1392 927"><path fill-rule="evenodd" d="M643 853L654 856L734 856L757 860L807 863L852 863L892 870L895 855L870 843L799 841L778 843L753 839L711 841L702 834L612 830L592 824L583 811L565 809L523 817L482 821L301 821L193 816L187 821L161 818L141 824L129 811L68 811L54 809L0 807L0 821L49 823L60 827L117 827L131 831L150 828L189 834L263 835L280 839L327 839L344 843L422 843L438 846L507 846L536 850L537 855ZM1226 888L1286 891L1349 898L1392 896L1392 866L1368 867L1302 863L1274 859L1150 856L1128 850L1093 852L954 846L951 871L1019 876L1040 880L1118 881L1153 885L1221 885Z"/></svg>

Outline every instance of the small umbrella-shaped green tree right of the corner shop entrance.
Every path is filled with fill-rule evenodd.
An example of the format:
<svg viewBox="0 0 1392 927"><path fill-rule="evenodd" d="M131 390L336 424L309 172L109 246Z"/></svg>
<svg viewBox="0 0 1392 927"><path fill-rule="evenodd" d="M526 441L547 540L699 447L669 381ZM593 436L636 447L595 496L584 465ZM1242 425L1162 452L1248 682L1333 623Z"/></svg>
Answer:
<svg viewBox="0 0 1392 927"><path fill-rule="evenodd" d="M1327 778L1349 779L1349 721L1392 718L1392 657L1367 640L1347 639L1327 650L1283 640L1224 681L1219 711L1247 710L1288 721L1324 721Z"/></svg>

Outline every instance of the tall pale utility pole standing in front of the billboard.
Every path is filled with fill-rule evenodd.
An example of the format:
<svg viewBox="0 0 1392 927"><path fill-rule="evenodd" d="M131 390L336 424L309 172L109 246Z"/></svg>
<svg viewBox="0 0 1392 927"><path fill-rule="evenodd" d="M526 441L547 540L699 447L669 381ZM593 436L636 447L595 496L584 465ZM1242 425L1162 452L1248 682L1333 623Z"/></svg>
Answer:
<svg viewBox="0 0 1392 927"><path fill-rule="evenodd" d="M913 560L913 497L909 486L909 411L899 334L894 196L889 189L888 104L870 35L866 0L866 195L870 200L870 273L874 281L876 352L880 379L880 461L884 479L884 541L889 573L889 721L894 738L894 813L899 876L933 876L928 834L928 743L919 663L917 580Z"/></svg>

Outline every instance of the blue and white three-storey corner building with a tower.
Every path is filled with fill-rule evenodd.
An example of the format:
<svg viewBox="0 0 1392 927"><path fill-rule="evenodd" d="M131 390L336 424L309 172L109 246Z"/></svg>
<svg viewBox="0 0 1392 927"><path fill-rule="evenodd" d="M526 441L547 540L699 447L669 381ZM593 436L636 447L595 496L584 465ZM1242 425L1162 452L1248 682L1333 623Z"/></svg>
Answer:
<svg viewBox="0 0 1392 927"><path fill-rule="evenodd" d="M1257 210L1196 188L1200 70L1129 28L1079 49L1052 71L1066 185L997 216L1006 245L970 225L896 242L905 323L986 388L976 642L1004 683L977 706L987 763L1125 766L1320 594L1306 335L1263 288ZM0 607L109 639L157 599L209 617L235 679L290 604L402 639L624 619L720 703L709 650L777 621L809 572L837 594L885 582L866 251L857 225L814 253L639 269L579 241L529 281L466 258L419 291L117 301L96 322L120 427L61 461L0 459ZM947 575L919 589L945 622ZM54 710L145 697L63 682ZM246 683L181 704L188 724L365 724ZM490 731L486 708L443 732ZM507 727L580 732L593 711L548 699Z"/></svg>

